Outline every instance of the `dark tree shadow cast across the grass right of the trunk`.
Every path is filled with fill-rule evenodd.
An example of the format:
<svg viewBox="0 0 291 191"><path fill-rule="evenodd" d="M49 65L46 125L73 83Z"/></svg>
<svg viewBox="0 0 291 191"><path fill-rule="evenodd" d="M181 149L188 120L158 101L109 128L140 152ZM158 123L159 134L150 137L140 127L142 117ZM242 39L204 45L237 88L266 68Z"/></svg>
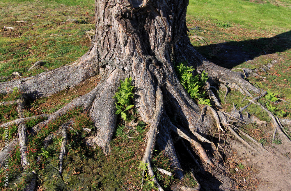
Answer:
<svg viewBox="0 0 291 191"><path fill-rule="evenodd" d="M228 69L253 60L260 55L280 53L290 48L291 30L269 38L230 41L195 47L208 60Z"/></svg>

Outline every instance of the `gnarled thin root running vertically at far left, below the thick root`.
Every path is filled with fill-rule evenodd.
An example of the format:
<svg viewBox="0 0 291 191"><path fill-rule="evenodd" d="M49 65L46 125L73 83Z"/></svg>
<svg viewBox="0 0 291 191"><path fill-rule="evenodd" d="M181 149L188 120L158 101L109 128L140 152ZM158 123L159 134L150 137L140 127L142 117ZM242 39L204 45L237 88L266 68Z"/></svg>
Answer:
<svg viewBox="0 0 291 191"><path fill-rule="evenodd" d="M19 118L24 118L23 110L24 110L24 105L25 105L25 99L24 97L20 97L17 100L18 107L17 107L17 112L18 112L18 117ZM27 128L24 122L21 122L18 126L18 142L19 142L19 150L21 154L21 165L24 169L29 166L29 162L27 160Z"/></svg>

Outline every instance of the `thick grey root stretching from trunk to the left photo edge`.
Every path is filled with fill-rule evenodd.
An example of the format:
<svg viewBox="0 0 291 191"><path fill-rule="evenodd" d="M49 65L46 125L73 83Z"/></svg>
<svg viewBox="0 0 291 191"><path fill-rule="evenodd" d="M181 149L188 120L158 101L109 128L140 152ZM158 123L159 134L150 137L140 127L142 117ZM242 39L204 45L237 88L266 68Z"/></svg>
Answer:
<svg viewBox="0 0 291 191"><path fill-rule="evenodd" d="M69 66L43 72L33 77L1 82L0 93L10 93L17 87L28 98L35 99L68 89L70 86L80 84L98 73L99 68L95 61L88 55L84 55Z"/></svg>

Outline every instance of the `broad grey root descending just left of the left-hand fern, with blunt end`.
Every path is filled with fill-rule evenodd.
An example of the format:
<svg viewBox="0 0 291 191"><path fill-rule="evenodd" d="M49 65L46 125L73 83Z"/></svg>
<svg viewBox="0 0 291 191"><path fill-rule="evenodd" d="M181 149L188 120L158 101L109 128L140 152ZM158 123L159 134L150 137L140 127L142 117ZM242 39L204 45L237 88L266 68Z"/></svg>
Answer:
<svg viewBox="0 0 291 191"><path fill-rule="evenodd" d="M86 144L94 147L95 145L102 147L106 155L111 152L109 143L117 119L115 114L115 98L113 96L118 91L120 80L123 80L123 78L124 73L119 69L109 73L107 79L103 82L102 88L98 90L90 111L97 132L95 135L85 139Z"/></svg>

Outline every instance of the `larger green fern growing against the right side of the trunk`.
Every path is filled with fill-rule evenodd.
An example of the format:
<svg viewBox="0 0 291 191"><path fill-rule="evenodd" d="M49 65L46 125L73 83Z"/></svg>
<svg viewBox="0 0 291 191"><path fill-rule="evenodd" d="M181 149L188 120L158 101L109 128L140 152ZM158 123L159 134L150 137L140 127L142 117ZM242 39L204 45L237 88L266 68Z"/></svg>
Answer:
<svg viewBox="0 0 291 191"><path fill-rule="evenodd" d="M197 99L199 104L210 105L210 100L205 99L205 91L201 90L201 87L205 84L208 79L205 71L201 73L201 76L198 74L193 76L193 71L195 70L192 66L186 66L186 62L181 62L178 65L175 65L175 70L178 74L178 78L181 84L184 86L186 91L189 93L192 99Z"/></svg>

